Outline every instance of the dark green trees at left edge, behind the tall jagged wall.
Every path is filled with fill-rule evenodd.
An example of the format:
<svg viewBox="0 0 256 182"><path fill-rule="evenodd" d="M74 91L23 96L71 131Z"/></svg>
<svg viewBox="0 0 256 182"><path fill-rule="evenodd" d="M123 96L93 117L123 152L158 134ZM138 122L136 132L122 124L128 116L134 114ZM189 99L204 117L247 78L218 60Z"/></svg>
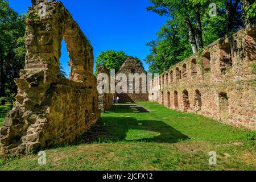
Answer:
<svg viewBox="0 0 256 182"><path fill-rule="evenodd" d="M17 90L14 78L24 67L26 54L25 18L0 0L0 97L13 97Z"/></svg>

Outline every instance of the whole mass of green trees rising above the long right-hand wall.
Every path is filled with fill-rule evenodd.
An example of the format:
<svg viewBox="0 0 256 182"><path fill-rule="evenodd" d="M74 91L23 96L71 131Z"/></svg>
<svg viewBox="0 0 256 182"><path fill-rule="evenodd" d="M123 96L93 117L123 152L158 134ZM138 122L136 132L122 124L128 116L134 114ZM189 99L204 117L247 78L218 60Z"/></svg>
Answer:
<svg viewBox="0 0 256 182"><path fill-rule="evenodd" d="M232 34L255 19L251 0L150 0L148 11L169 20L148 42L150 55L144 59L152 73L162 73L171 65L197 53L203 47ZM214 4L213 4L214 3ZM217 14L211 15L216 5Z"/></svg>

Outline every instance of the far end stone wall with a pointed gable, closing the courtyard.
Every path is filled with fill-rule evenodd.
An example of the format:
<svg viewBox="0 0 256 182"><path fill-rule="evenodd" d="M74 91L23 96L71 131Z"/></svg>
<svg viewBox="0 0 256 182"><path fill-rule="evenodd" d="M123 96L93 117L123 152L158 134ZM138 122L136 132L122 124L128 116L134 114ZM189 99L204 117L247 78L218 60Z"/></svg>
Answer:
<svg viewBox="0 0 256 182"><path fill-rule="evenodd" d="M148 92L142 92L142 88L147 88L146 83L143 84L142 80L139 81L139 93L135 93L135 80L133 81L132 85L129 85L129 73L137 73L139 75L143 73L147 75L141 61L138 61L133 57L128 57L128 59L125 61L125 63L122 64L121 68L119 69L116 75L118 75L119 73L125 74L127 77L127 93L117 94L117 96L120 98L119 102L148 101ZM131 86L134 89L133 93L128 93L129 86Z"/></svg>

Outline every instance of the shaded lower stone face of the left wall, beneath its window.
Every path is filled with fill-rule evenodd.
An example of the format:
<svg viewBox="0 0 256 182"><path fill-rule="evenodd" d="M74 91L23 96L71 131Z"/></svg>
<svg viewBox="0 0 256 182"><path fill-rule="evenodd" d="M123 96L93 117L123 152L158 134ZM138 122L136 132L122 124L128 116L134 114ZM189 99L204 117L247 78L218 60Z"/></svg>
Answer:
<svg viewBox="0 0 256 182"><path fill-rule="evenodd" d="M52 86L49 125L43 129L42 147L69 144L99 118L96 90L70 85Z"/></svg>

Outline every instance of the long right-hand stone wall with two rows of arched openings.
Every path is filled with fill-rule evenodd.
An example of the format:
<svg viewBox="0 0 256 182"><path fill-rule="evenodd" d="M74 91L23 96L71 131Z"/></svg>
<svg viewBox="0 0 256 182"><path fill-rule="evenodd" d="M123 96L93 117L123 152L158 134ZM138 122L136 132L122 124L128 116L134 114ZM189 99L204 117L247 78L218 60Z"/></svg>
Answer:
<svg viewBox="0 0 256 182"><path fill-rule="evenodd" d="M256 130L256 27L217 40L160 75L152 93L170 109Z"/></svg>

